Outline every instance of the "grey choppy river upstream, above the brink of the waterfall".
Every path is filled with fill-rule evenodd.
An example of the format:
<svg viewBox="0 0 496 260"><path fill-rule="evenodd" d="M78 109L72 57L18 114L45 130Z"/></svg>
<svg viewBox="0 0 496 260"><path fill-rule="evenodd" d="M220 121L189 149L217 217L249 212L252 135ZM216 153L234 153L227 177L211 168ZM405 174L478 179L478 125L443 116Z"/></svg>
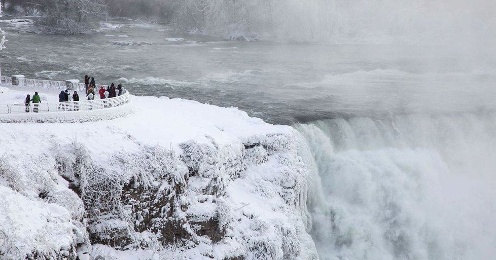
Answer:
<svg viewBox="0 0 496 260"><path fill-rule="evenodd" d="M271 123L492 109L494 53L446 46L235 42L113 21L93 35L18 32L5 24L2 75L94 76L136 95L237 106ZM29 27L24 30L30 29ZM105 36L111 35L111 36Z"/></svg>

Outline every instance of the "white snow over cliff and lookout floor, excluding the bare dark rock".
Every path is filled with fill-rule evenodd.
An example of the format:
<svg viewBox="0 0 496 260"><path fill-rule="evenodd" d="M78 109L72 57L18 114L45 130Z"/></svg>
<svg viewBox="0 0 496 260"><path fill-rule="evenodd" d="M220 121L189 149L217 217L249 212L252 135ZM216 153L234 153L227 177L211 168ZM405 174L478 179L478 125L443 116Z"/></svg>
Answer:
<svg viewBox="0 0 496 260"><path fill-rule="evenodd" d="M1 88L0 102L22 102L34 91ZM43 101L57 100L57 90L38 91ZM118 259L317 258L307 233L310 172L298 155L301 139L293 128L250 118L235 107L167 97L131 99L131 113L114 120L1 124L0 197L5 204L0 208L0 252L7 253L7 259L26 255L74 259L77 254L84 259L88 252ZM200 220L219 217L227 230L224 238L213 242L193 236L183 247L155 243L127 251L90 245L83 202L61 177L60 158L77 163L80 159L71 151L83 147L92 164L119 171L130 167L122 163L123 154L139 155L151 146L164 147L180 159L174 159L178 164L173 167L198 167L200 176L190 175L187 182L189 208L183 214ZM203 154L208 151L215 153ZM239 160L241 164L230 168ZM150 163L156 162L151 158ZM124 171L123 179L128 174ZM216 181L218 194L201 194L208 179ZM136 236L150 236L145 233ZM153 244L157 239L146 241Z"/></svg>

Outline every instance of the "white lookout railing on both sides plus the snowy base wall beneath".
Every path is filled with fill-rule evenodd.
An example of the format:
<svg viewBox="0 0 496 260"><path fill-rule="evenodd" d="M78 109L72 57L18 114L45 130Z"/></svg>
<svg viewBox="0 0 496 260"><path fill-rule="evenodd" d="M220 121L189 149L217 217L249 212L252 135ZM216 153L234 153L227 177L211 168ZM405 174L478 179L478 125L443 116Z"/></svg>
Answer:
<svg viewBox="0 0 496 260"><path fill-rule="evenodd" d="M2 86L20 88L47 88L78 91L86 99L86 86L77 82L46 81L33 79L18 79L16 85L11 77L0 77ZM96 88L107 85L97 85ZM95 96L99 96L96 94ZM130 94L124 90L123 94L113 98L68 101L68 102L41 102L31 103L26 107L24 103L0 104L0 122L87 122L109 120L128 115L131 110L125 106L130 102Z"/></svg>

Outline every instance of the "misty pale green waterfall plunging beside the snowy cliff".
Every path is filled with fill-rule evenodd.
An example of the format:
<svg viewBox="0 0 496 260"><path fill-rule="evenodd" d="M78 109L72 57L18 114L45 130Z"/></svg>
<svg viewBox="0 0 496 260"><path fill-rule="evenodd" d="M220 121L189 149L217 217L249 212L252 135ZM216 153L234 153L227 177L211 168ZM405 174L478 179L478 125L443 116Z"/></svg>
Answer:
<svg viewBox="0 0 496 260"><path fill-rule="evenodd" d="M296 126L320 194L321 259L496 255L496 115L331 119Z"/></svg>

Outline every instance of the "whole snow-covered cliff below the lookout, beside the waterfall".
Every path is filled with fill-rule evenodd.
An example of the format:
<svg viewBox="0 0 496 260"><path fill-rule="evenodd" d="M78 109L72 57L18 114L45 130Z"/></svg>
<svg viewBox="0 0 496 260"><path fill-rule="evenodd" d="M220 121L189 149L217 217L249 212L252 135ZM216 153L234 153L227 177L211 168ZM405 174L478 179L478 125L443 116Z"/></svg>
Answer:
<svg viewBox="0 0 496 260"><path fill-rule="evenodd" d="M318 258L298 132L132 99L109 121L1 124L2 259Z"/></svg>

